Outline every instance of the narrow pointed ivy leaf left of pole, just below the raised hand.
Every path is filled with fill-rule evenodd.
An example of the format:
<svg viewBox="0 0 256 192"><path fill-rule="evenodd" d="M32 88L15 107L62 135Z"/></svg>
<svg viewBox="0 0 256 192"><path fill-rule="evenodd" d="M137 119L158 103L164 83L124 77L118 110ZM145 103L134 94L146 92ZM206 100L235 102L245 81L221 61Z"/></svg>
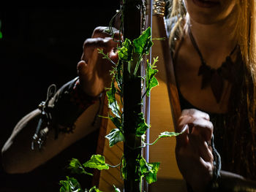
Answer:
<svg viewBox="0 0 256 192"><path fill-rule="evenodd" d="M112 81L111 88L106 93L108 96L108 107L113 112L113 114L116 115L116 117L120 118L120 115L118 113L119 106L118 106L118 103L117 103L116 97L115 97L116 88L115 88L114 81Z"/></svg>

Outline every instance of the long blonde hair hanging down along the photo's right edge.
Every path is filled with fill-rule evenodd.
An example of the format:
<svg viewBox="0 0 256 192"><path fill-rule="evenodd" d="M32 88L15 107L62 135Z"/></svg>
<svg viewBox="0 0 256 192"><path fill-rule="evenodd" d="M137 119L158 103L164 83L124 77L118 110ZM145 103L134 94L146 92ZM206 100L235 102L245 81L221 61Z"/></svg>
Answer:
<svg viewBox="0 0 256 192"><path fill-rule="evenodd" d="M238 4L240 9L238 16L238 44L250 76L246 77L247 108L249 123L253 133L256 134L256 3L255 0L240 0ZM249 78L252 79L253 85L249 85ZM249 86L253 87L249 88Z"/></svg>

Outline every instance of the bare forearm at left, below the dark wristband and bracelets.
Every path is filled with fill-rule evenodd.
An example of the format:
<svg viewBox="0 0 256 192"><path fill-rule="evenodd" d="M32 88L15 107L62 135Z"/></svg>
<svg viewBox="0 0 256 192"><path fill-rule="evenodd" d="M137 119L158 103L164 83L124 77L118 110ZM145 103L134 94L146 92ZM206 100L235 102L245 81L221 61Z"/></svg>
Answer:
<svg viewBox="0 0 256 192"><path fill-rule="evenodd" d="M48 128L47 139L41 150L39 150L37 143L35 143L34 150L31 149L32 137L37 128L39 118L41 118L40 110L34 110L29 115L26 115L15 126L10 139L7 140L2 148L2 161L7 172L29 172L97 128L97 125L94 125L94 118L99 112L99 99L86 106L84 112L74 112L75 107L69 107L72 110L63 109L63 106L69 106L69 101L65 100L64 104L60 104L60 102L62 102L61 99L59 99L59 103L54 103L55 107L57 107L52 112L54 122ZM63 110L65 111L63 112ZM72 116L73 113L77 113L76 115L78 116ZM75 128L72 133L61 132L61 128L70 125ZM44 126L42 129L46 127L48 126ZM56 130L59 130L57 138Z"/></svg>

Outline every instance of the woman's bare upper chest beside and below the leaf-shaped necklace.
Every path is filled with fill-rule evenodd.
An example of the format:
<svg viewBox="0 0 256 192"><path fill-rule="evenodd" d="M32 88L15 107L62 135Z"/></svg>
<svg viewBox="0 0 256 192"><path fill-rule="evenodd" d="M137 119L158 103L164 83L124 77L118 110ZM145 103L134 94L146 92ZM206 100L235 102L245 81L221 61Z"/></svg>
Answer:
<svg viewBox="0 0 256 192"><path fill-rule="evenodd" d="M199 68L200 61L197 61L196 58L184 59L180 56L176 59L176 82L181 96L199 110L214 113L227 112L232 85L226 80L222 82L222 85L218 85L218 82L214 82L214 80L205 83L203 76L198 75ZM203 83L205 85L202 88ZM222 86L219 101L214 96L213 86L217 89Z"/></svg>

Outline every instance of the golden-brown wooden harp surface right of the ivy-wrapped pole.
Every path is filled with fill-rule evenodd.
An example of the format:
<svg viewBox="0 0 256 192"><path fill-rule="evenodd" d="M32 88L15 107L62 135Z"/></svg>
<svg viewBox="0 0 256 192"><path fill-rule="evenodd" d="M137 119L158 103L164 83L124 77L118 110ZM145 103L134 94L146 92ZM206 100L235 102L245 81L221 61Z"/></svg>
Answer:
<svg viewBox="0 0 256 192"><path fill-rule="evenodd" d="M152 38L166 37L163 18L154 16L152 23ZM151 90L150 142L154 142L163 131L174 131L176 119L181 112L167 39L154 40L152 58L157 56L159 86ZM176 138L167 137L150 147L149 161L160 162L160 169L158 181L149 185L149 191L187 191L176 163L175 146Z"/></svg>

